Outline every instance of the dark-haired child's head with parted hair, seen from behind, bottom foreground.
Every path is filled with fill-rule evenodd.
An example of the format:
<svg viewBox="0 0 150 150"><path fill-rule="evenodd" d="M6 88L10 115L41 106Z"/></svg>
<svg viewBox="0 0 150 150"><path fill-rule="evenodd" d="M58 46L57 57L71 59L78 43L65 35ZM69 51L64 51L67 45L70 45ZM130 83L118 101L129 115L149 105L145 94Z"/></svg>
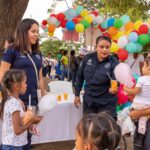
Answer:
<svg viewBox="0 0 150 150"><path fill-rule="evenodd" d="M107 113L84 115L76 129L76 150L114 150L121 130Z"/></svg>

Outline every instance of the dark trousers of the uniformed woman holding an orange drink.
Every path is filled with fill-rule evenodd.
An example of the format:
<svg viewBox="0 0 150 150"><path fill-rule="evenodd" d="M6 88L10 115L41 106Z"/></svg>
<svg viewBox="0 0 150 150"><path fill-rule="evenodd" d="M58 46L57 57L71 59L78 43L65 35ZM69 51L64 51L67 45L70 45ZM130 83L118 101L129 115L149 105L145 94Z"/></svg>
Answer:
<svg viewBox="0 0 150 150"><path fill-rule="evenodd" d="M92 105L89 106L85 100L83 101L83 114L100 113L104 111L110 114L110 116L112 116L116 120L116 105L114 105L114 103L109 103L107 105L92 103Z"/></svg>

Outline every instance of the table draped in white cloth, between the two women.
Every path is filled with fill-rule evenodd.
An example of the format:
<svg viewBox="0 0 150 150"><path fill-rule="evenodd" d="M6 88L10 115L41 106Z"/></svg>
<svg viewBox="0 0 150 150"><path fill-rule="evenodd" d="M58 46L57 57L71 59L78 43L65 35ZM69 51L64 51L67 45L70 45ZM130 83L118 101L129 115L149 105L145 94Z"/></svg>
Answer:
<svg viewBox="0 0 150 150"><path fill-rule="evenodd" d="M33 136L32 144L74 140L76 125L81 117L82 106L77 109L73 98L58 103L38 124L40 136Z"/></svg>

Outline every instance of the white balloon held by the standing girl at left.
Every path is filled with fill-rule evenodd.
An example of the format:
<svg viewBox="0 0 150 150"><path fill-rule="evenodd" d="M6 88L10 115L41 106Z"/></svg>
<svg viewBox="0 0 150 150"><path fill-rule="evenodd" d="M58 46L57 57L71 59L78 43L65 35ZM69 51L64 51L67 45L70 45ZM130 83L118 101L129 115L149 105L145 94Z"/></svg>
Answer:
<svg viewBox="0 0 150 150"><path fill-rule="evenodd" d="M53 109L57 104L56 97L52 94L47 94L41 98L39 101L39 114L44 115L46 112Z"/></svg>

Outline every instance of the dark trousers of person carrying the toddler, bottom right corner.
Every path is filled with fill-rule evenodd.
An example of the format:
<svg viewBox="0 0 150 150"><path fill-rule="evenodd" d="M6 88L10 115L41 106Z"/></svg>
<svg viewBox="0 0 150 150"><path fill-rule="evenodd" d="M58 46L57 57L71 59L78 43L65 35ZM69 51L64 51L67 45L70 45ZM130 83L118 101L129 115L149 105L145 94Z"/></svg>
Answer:
<svg viewBox="0 0 150 150"><path fill-rule="evenodd" d="M138 122L135 126L133 150L150 150L150 119L147 122L145 135L138 133Z"/></svg>

